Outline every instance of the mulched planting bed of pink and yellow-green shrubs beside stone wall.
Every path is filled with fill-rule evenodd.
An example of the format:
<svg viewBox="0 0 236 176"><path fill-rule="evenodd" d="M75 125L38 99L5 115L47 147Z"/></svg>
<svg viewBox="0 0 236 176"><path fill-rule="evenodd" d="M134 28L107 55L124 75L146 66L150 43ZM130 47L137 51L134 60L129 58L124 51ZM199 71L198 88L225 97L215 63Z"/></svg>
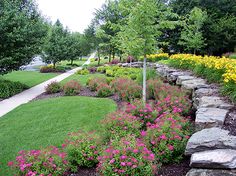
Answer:
<svg viewBox="0 0 236 176"><path fill-rule="evenodd" d="M103 130L71 133L62 148L46 148L37 154L21 152L22 159L9 163L11 168L20 174L184 176L190 168L189 158L183 154L192 132L188 92L148 71L148 101L143 104L139 68L105 66L97 70L105 76L85 75L87 81L82 80L86 86L79 80L68 80L63 86L54 82L33 101L62 96L108 97L118 109L97 124ZM41 165L39 157L48 162Z"/></svg>

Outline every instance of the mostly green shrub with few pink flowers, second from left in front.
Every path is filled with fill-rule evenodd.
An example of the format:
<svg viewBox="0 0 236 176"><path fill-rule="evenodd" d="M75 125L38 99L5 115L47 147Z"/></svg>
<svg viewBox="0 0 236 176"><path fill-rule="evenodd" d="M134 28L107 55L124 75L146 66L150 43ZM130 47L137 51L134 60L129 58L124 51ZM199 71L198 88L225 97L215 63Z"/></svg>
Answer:
<svg viewBox="0 0 236 176"><path fill-rule="evenodd" d="M93 132L70 133L62 145L67 152L67 160L72 171L77 167L93 167L98 163L97 157L100 150L99 136Z"/></svg>

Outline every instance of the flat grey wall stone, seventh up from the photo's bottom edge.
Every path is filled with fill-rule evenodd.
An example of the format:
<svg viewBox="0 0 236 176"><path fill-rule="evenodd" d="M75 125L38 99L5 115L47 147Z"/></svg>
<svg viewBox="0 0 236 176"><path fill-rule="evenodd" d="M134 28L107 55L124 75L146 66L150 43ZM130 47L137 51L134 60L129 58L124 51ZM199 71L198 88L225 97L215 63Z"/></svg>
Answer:
<svg viewBox="0 0 236 176"><path fill-rule="evenodd" d="M200 79L200 78L183 81L181 84L182 84L182 87L187 90L195 90L195 89L199 89L199 88L210 87L208 84L206 84L206 81L204 79Z"/></svg>

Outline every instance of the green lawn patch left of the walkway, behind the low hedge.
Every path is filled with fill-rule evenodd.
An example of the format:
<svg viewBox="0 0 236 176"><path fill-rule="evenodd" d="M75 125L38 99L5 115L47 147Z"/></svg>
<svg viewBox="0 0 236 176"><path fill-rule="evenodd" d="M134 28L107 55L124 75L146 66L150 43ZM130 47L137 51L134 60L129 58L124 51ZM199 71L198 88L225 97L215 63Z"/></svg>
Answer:
<svg viewBox="0 0 236 176"><path fill-rule="evenodd" d="M19 81L29 87L33 87L57 75L57 73L40 73L36 71L14 71L6 75L0 76L0 79Z"/></svg>

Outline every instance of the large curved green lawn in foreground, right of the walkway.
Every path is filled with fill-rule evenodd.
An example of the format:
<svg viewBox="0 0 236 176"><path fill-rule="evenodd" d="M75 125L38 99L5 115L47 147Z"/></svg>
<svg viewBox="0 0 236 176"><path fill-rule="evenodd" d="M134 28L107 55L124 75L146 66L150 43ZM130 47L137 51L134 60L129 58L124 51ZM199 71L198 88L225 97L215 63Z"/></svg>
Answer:
<svg viewBox="0 0 236 176"><path fill-rule="evenodd" d="M99 121L116 110L110 99L60 97L31 102L0 118L0 175L20 150L60 146L68 132L101 131Z"/></svg>

